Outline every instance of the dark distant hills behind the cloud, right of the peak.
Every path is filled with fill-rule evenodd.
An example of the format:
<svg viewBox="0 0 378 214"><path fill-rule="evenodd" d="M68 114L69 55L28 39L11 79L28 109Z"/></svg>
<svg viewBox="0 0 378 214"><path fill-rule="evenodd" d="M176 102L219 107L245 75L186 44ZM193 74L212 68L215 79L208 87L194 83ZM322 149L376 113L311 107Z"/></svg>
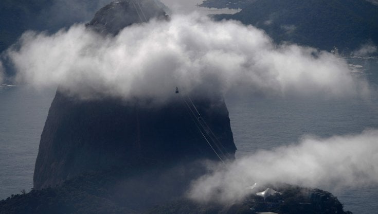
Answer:
<svg viewBox="0 0 378 214"><path fill-rule="evenodd" d="M267 32L277 43L289 41L345 53L378 44L378 6L362 0L256 0L233 15Z"/></svg>

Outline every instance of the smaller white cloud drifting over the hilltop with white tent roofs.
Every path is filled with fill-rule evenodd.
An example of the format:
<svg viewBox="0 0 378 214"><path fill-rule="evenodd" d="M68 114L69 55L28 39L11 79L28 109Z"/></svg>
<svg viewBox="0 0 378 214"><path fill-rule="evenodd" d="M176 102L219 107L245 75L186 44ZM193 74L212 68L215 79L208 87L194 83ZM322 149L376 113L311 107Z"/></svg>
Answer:
<svg viewBox="0 0 378 214"><path fill-rule="evenodd" d="M378 130L330 138L304 136L298 144L257 151L226 165L209 164L212 173L194 181L188 197L240 200L253 191L248 187L255 182L328 190L377 185L377 163Z"/></svg>

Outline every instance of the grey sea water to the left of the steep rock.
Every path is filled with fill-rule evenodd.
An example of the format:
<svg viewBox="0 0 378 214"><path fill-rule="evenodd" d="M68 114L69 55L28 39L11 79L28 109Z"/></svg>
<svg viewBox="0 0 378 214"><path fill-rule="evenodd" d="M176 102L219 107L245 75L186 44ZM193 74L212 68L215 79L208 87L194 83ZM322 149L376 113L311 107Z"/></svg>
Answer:
<svg viewBox="0 0 378 214"><path fill-rule="evenodd" d="M54 93L0 86L0 199L32 188L39 140Z"/></svg>

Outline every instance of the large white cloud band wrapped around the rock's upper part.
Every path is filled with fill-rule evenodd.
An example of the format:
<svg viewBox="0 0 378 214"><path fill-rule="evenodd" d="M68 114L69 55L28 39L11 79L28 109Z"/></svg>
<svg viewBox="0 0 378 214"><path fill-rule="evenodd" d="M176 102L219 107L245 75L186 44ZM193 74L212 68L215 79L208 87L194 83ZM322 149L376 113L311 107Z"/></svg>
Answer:
<svg viewBox="0 0 378 214"><path fill-rule="evenodd" d="M15 82L59 85L81 98L168 100L175 87L245 94L366 95L345 60L295 44L276 45L262 30L199 14L124 28L115 37L83 24L55 34L25 32L3 53Z"/></svg>

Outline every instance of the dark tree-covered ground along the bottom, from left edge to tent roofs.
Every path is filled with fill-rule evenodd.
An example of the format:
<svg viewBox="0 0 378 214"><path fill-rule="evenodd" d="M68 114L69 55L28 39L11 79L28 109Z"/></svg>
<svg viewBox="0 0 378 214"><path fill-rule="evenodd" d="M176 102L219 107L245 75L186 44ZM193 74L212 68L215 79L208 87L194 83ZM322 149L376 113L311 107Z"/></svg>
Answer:
<svg viewBox="0 0 378 214"><path fill-rule="evenodd" d="M135 172L135 170L134 170ZM146 214L212 214L212 213L256 213L262 211L279 212L280 214L348 214L343 205L331 193L281 184L276 193L263 197L251 193L242 202L220 204L215 202L201 203L186 198L176 198L170 202L151 206L145 200L132 201L135 195L133 189L122 188L121 177L128 177L120 170L103 173L86 174L64 182L54 188L31 190L29 193L12 195L0 201L0 213L146 213ZM121 182L122 184L122 182ZM148 185L134 184L144 186ZM261 187L264 190L266 187ZM148 200L151 194L146 192L143 198ZM141 207L129 207L139 203Z"/></svg>

